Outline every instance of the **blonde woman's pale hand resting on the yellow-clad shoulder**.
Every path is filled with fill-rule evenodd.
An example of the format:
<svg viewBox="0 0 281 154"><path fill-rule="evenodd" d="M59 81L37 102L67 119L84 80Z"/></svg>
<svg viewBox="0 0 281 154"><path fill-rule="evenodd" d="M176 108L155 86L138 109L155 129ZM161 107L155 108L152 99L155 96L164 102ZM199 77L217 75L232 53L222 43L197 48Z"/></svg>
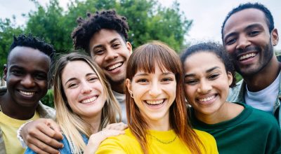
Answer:
<svg viewBox="0 0 281 154"><path fill-rule="evenodd" d="M118 136L119 134L125 134L124 129L123 130L102 130L100 132L97 132L96 134L91 134L89 142L88 142L86 148L84 149L84 154L96 153L96 151L98 150L98 146L100 146L100 143L103 140L105 140L107 137Z"/></svg>

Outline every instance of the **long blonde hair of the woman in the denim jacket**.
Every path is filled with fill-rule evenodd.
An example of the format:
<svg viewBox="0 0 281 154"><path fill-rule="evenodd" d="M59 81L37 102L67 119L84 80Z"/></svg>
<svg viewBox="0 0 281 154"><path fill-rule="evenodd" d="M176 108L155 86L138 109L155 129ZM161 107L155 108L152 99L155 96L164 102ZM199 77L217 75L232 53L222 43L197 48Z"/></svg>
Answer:
<svg viewBox="0 0 281 154"><path fill-rule="evenodd" d="M84 143L81 134L85 134L86 137L89 138L93 132L90 130L91 126L70 108L67 103L67 96L65 95L62 84L63 69L65 69L65 66L72 61L83 61L89 64L91 69L96 72L101 85L103 85L106 102L102 109L102 116L98 130L102 130L110 123L117 123L117 117L120 122L122 117L119 104L112 93L110 84L107 82L102 70L94 62L92 62L91 57L79 52L72 52L70 54L60 56L55 64L53 84L56 120L70 144L72 153L83 153L86 144Z"/></svg>

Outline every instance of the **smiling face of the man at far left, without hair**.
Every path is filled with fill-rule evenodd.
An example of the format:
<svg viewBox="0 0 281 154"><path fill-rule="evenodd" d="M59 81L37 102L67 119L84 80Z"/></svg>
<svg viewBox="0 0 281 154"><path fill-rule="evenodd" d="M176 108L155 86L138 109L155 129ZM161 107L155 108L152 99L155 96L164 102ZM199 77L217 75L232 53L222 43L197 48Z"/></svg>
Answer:
<svg viewBox="0 0 281 154"><path fill-rule="evenodd" d="M13 103L37 106L48 90L50 64L50 57L37 49L17 46L11 50L4 80Z"/></svg>

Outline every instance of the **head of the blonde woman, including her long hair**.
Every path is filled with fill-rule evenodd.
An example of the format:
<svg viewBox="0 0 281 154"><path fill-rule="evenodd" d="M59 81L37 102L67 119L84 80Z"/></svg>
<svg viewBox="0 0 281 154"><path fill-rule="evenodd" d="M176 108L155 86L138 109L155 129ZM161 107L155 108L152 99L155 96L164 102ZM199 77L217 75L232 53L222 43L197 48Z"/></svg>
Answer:
<svg viewBox="0 0 281 154"><path fill-rule="evenodd" d="M53 86L58 124L66 137L76 141L73 144L78 145L76 147L83 147L80 146L82 142L78 144L77 139L81 139L79 132L88 137L93 133L89 120L100 120L97 127L102 130L107 124L116 123L117 113L121 117L110 84L86 55L72 52L61 56L55 64ZM72 136L74 132L77 132L76 137Z"/></svg>

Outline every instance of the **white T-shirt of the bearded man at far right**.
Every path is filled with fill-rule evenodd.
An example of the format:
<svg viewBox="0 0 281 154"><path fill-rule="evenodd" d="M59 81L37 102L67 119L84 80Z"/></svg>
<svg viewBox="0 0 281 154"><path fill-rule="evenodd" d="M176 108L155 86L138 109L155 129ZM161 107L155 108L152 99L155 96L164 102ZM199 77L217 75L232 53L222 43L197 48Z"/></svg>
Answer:
<svg viewBox="0 0 281 154"><path fill-rule="evenodd" d="M249 106L260 109L269 113L273 113L273 106L279 91L280 73L265 89L259 92L250 92L246 86L245 102Z"/></svg>

